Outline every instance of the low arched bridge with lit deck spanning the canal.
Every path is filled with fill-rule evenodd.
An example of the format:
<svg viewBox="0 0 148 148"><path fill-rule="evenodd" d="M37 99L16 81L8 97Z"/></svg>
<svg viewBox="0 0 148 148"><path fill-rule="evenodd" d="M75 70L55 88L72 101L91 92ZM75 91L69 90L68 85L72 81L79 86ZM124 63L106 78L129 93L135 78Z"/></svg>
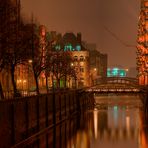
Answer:
<svg viewBox="0 0 148 148"><path fill-rule="evenodd" d="M136 78L107 77L98 79L97 84L87 88L86 91L94 93L137 93L141 91L141 87Z"/></svg>

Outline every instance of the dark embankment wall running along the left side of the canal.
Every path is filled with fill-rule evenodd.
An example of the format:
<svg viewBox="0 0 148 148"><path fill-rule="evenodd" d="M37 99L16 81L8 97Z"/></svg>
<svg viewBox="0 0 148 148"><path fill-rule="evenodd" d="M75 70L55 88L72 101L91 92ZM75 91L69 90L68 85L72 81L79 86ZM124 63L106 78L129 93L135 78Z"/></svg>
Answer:
<svg viewBox="0 0 148 148"><path fill-rule="evenodd" d="M37 147L43 148L49 138L40 139L40 135L93 105L93 95L82 91L59 91L1 101L0 147L23 147L38 137Z"/></svg>

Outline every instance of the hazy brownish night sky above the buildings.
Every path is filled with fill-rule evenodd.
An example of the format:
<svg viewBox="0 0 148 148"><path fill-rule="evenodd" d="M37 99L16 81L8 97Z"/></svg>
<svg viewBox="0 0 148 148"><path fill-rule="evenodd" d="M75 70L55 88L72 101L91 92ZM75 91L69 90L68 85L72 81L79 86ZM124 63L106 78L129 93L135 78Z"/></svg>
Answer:
<svg viewBox="0 0 148 148"><path fill-rule="evenodd" d="M96 43L108 54L109 66L136 66L140 0L21 0L22 13L33 13L49 31L81 32L82 40ZM105 26L105 27L104 27Z"/></svg>

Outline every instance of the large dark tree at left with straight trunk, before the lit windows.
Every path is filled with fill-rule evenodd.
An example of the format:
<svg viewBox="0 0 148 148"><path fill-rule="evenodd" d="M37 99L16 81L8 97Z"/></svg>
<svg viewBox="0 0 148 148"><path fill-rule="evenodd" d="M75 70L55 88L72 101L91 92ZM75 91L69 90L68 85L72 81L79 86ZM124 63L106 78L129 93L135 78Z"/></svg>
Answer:
<svg viewBox="0 0 148 148"><path fill-rule="evenodd" d="M30 49L28 48L27 26L21 24L17 32L12 33L7 42L7 47L3 53L3 63L6 69L10 71L14 96L18 96L16 80L14 77L17 65L25 65L30 58Z"/></svg>

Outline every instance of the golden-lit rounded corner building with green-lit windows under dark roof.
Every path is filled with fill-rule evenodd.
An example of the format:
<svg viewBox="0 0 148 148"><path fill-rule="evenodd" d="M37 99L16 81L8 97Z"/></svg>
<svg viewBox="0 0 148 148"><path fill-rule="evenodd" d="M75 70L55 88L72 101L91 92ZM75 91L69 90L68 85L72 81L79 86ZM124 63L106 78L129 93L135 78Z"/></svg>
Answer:
<svg viewBox="0 0 148 148"><path fill-rule="evenodd" d="M89 86L89 51L82 45L81 33L77 33L77 36L72 32L65 33L61 38L58 38L54 50L72 53L74 59L72 64L77 72L77 86ZM72 87L73 84L72 82Z"/></svg>

